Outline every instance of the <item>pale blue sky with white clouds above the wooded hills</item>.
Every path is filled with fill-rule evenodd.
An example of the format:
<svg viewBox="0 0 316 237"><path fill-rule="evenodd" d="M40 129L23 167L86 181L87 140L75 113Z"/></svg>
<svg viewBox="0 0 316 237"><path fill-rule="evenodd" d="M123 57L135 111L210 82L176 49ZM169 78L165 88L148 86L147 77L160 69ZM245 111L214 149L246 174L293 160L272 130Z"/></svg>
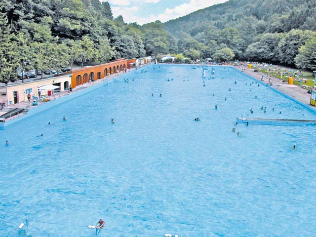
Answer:
<svg viewBox="0 0 316 237"><path fill-rule="evenodd" d="M104 1L104 0L103 0ZM228 0L107 0L113 16L122 15L124 22L143 25L160 20L166 22L211 5Z"/></svg>

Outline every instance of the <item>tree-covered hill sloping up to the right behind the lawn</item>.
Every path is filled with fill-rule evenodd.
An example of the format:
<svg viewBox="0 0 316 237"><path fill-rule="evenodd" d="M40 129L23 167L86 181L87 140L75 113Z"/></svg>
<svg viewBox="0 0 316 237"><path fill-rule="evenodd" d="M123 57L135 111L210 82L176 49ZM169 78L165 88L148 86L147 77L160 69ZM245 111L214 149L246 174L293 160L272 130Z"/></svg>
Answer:
<svg viewBox="0 0 316 237"><path fill-rule="evenodd" d="M197 58L236 57L316 70L315 0L230 0L163 25L187 56L194 52Z"/></svg>

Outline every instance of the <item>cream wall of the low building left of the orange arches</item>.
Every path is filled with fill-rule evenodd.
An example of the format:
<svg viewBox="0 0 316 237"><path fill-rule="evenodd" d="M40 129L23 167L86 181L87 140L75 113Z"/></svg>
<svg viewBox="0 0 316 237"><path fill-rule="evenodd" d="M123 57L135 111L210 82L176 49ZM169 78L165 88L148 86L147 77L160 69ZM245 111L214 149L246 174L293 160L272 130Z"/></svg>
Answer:
<svg viewBox="0 0 316 237"><path fill-rule="evenodd" d="M64 82L68 81L70 83L71 75L35 80L30 82L24 82L20 84L13 84L6 86L6 101L8 104L14 104L14 91L17 92L17 103L27 101L27 95L30 93L35 97L39 96L38 87L42 85L52 85L55 83L60 83L60 89L65 90Z"/></svg>

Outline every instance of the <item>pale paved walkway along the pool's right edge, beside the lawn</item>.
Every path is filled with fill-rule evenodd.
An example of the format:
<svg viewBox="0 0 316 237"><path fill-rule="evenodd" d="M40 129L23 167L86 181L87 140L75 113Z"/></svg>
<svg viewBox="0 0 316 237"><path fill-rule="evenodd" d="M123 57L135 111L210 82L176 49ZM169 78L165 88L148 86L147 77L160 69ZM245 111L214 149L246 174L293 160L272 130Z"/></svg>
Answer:
<svg viewBox="0 0 316 237"><path fill-rule="evenodd" d="M248 69L244 66L237 66L235 68L237 68L239 71L257 80L261 80L262 76L266 75L265 73L261 73L261 72L255 73L252 69ZM269 78L270 76L267 79L264 78L262 82L269 83ZM297 85L289 85L287 84L287 82L282 82L281 79L278 79L275 77L271 77L270 82L272 83L272 87L274 87L275 89L283 92L284 94L287 94L288 96L291 96L297 99L298 101L308 105L309 107L313 109L316 109L314 106L310 105L311 94L307 93L306 89L303 89Z"/></svg>

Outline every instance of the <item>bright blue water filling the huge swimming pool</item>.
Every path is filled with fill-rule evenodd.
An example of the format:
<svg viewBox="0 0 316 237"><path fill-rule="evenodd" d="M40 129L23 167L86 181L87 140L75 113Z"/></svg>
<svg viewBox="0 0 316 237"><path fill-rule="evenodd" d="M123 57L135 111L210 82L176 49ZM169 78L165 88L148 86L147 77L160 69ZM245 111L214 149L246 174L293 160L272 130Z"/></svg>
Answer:
<svg viewBox="0 0 316 237"><path fill-rule="evenodd" d="M235 124L314 112L233 68L146 70L0 131L1 237L315 235L315 126Z"/></svg>

